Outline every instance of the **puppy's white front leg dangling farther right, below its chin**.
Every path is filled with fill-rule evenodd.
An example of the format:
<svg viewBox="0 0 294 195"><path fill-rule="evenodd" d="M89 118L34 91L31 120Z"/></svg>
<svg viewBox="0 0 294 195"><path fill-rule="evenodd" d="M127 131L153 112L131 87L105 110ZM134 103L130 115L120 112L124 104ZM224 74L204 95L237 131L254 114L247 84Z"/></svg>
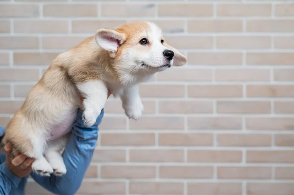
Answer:
<svg viewBox="0 0 294 195"><path fill-rule="evenodd" d="M123 109L125 114L129 118L138 120L144 110L138 86L134 85L133 87L124 88L123 93L121 94L121 99L123 102Z"/></svg>

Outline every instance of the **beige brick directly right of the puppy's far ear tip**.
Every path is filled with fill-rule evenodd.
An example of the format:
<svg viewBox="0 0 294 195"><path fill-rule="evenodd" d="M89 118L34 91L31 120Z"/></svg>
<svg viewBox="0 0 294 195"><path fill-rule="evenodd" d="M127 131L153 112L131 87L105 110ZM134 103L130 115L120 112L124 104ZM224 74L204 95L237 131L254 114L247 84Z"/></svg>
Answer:
<svg viewBox="0 0 294 195"><path fill-rule="evenodd" d="M189 65L242 65L242 53L189 52Z"/></svg>

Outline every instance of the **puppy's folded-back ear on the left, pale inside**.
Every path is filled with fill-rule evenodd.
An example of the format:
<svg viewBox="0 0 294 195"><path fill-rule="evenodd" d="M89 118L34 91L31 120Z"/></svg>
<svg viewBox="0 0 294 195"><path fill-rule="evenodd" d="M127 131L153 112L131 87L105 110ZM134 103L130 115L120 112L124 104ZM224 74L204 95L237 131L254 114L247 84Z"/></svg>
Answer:
<svg viewBox="0 0 294 195"><path fill-rule="evenodd" d="M124 33L120 33L111 29L99 29L96 32L95 40L100 47L110 51L113 56L119 49L119 45L122 44L126 39Z"/></svg>

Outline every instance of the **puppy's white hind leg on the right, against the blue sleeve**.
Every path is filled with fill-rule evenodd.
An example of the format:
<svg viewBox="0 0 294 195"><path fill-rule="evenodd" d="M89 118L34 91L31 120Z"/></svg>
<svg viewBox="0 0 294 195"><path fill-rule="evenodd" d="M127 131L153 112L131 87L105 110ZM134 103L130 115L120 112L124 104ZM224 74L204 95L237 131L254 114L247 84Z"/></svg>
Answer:
<svg viewBox="0 0 294 195"><path fill-rule="evenodd" d="M49 143L48 149L45 151L45 158L53 168L53 174L62 176L66 173L66 167L63 162L61 152L65 148L70 133Z"/></svg>

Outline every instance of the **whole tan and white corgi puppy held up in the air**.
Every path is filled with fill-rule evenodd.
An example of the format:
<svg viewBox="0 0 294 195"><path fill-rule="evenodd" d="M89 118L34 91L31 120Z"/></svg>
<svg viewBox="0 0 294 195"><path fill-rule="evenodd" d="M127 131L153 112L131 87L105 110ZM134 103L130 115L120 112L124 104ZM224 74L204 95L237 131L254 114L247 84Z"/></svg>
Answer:
<svg viewBox="0 0 294 195"><path fill-rule="evenodd" d="M110 90L121 98L125 114L137 120L144 109L138 84L186 61L164 41L154 23L130 22L114 30L99 29L52 61L8 123L2 144L13 144L13 156L34 157L34 172L62 175L66 168L61 152L77 108L84 109L84 124L92 126Z"/></svg>

